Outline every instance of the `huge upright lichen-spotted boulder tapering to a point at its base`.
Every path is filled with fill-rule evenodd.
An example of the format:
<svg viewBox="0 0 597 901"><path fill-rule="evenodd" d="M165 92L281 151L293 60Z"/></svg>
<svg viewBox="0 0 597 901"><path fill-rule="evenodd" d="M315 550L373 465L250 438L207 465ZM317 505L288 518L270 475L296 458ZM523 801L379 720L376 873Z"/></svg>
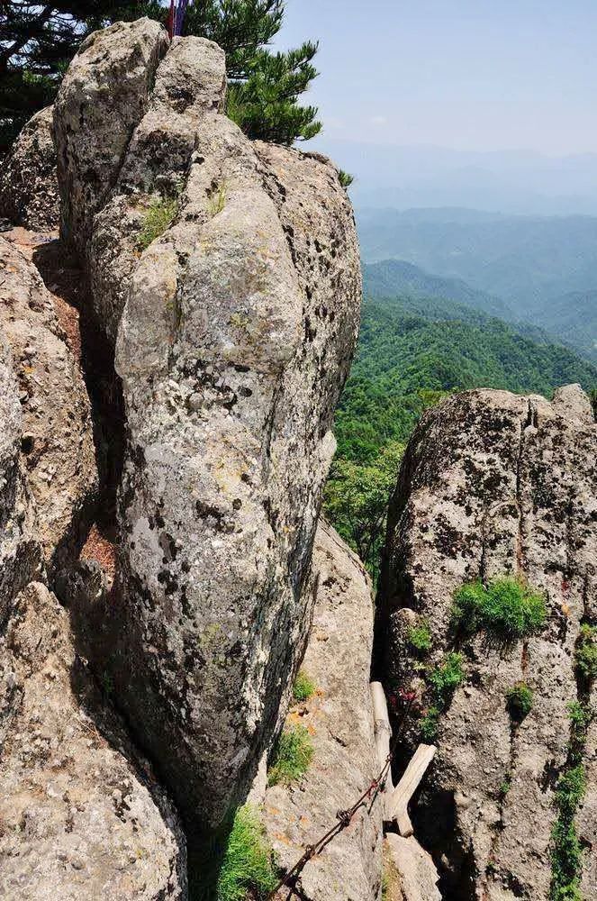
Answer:
<svg viewBox="0 0 597 901"><path fill-rule="evenodd" d="M221 114L213 43L166 50L148 20L98 32L55 123L64 231L118 336L125 402L108 665L185 815L211 826L249 786L302 651L360 271L330 162Z"/></svg>

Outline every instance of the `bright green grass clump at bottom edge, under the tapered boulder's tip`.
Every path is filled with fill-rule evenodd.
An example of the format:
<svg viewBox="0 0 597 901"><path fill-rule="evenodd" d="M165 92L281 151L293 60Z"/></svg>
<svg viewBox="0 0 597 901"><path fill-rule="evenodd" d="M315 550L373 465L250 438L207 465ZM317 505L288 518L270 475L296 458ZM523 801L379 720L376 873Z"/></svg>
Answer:
<svg viewBox="0 0 597 901"><path fill-rule="evenodd" d="M276 884L274 856L258 810L245 804L234 817L218 877L217 901L265 899Z"/></svg>

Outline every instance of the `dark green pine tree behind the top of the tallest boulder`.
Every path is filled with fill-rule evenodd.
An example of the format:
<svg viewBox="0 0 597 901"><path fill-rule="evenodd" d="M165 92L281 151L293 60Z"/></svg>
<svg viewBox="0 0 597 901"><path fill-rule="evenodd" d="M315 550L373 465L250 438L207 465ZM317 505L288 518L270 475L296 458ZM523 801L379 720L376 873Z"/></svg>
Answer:
<svg viewBox="0 0 597 901"><path fill-rule="evenodd" d="M77 46L96 28L141 15L165 23L167 0L2 0L0 11L0 152L42 106L52 102ZM291 144L320 131L313 106L298 97L317 72L317 45L274 53L267 45L284 19L284 0L194 0L185 34L226 52L228 113L251 138Z"/></svg>

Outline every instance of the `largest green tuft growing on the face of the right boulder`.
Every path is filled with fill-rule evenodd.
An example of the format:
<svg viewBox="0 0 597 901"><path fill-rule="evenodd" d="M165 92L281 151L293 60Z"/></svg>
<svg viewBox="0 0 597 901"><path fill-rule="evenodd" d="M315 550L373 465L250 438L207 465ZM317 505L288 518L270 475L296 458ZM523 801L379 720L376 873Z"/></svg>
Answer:
<svg viewBox="0 0 597 901"><path fill-rule="evenodd" d="M545 599L519 579L496 578L484 586L471 582L454 596L452 622L460 633L483 630L498 642L514 642L540 632L547 616Z"/></svg>

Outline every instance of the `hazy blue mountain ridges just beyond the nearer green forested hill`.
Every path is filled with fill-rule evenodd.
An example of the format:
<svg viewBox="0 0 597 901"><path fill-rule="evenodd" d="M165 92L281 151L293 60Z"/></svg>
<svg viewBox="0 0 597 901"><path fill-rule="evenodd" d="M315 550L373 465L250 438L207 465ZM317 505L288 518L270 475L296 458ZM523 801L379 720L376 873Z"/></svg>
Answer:
<svg viewBox="0 0 597 901"><path fill-rule="evenodd" d="M376 296L465 303L597 361L597 217L368 208L357 218Z"/></svg>

